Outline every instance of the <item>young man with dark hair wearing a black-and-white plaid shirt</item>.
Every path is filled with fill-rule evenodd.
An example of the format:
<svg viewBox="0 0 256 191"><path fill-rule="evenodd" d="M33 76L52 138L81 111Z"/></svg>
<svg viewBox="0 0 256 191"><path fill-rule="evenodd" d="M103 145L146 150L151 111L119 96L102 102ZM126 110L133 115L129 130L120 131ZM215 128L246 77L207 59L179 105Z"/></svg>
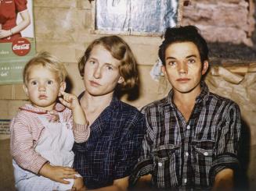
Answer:
<svg viewBox="0 0 256 191"><path fill-rule="evenodd" d="M209 92L202 80L206 41L196 27L168 28L158 53L172 89L142 109L147 132L131 182L138 181L137 188L232 190L240 108Z"/></svg>

